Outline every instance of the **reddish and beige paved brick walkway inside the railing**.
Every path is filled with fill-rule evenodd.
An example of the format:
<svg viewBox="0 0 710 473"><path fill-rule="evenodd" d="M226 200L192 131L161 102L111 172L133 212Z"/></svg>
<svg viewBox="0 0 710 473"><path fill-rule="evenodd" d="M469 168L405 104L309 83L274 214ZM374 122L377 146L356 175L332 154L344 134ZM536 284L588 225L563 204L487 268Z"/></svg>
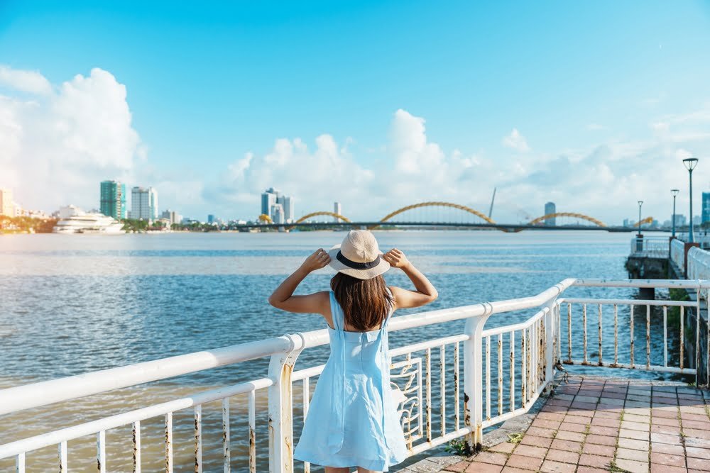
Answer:
<svg viewBox="0 0 710 473"><path fill-rule="evenodd" d="M569 377L520 443L443 472L709 472L710 391L679 383Z"/></svg>

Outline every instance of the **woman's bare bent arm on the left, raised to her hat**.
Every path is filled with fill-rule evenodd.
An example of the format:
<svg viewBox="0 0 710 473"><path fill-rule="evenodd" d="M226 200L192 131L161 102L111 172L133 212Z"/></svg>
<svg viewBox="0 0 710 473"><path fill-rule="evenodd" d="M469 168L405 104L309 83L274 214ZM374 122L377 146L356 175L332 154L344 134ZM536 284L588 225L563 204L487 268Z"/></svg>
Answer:
<svg viewBox="0 0 710 473"><path fill-rule="evenodd" d="M269 296L268 303L283 311L295 313L320 313L330 315L330 296L327 291L308 294L307 296L294 296L293 292L305 277L317 269L326 267L330 262L328 253L322 248L316 250L306 258L302 265L287 277Z"/></svg>

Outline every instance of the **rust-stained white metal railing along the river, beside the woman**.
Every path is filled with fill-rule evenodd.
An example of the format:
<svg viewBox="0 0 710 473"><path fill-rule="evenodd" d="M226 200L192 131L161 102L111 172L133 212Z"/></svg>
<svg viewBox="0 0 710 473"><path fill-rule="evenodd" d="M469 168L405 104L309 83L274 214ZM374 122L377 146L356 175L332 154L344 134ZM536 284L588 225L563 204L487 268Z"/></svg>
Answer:
<svg viewBox="0 0 710 473"><path fill-rule="evenodd" d="M411 455L463 436L466 436L469 445L480 445L482 429L530 409L552 381L557 362L696 374L696 382L699 382L697 370L688 367L685 361L693 356L696 366L700 361L697 302L562 299L560 296L564 291L573 286L710 291L710 281L706 280L565 279L532 297L394 318L389 324L390 331L466 321L463 333L423 340L390 350L391 380L398 384L406 398L400 404L400 411L403 413L403 430ZM694 353L688 354L684 353L687 329L684 327L683 313L691 308L697 314L697 320L689 332L694 335ZM520 323L484 329L486 321L495 314L530 309L533 309L530 316ZM679 311L678 326L670 323L677 315L674 311ZM610 318L611 314L613 319ZM311 381L322 372L324 365L296 371L293 368L303 350L326 345L328 341L327 330L315 330L1 390L0 416L204 369L270 357L265 377L4 443L0 445L0 462L4 458L14 458L16 471L24 472L27 455L40 448L55 446L60 472L66 472L67 442L85 435L94 435L97 471L105 472L110 469L107 467L107 432L129 426L133 472L141 472L141 422L160 418L163 424L163 439L160 441L164 444L164 468L166 472L172 472L175 468L185 467L175 465L173 416L178 411L189 410L194 424L191 440L194 467L196 472L201 472L204 455L203 406L221 401L222 421L219 429L222 445L219 455L223 466L220 469L231 471L232 448L240 447L246 453L243 455L244 465L239 470L256 472L256 419L260 407L256 395L266 391L269 469L271 472L292 472L294 418L296 414L302 414L305 418L309 408ZM662 350L656 350L657 346L662 346ZM460 385L461 374L463 389ZM297 389L294 389L294 384ZM298 391L302 397L300 401L294 402L293 394ZM233 417L230 413L230 399L238 395L247 396L245 414L248 425L248 431L244 436L240 435L239 440L230 427ZM212 453L216 452L212 450ZM310 465L304 464L303 471L310 472Z"/></svg>

